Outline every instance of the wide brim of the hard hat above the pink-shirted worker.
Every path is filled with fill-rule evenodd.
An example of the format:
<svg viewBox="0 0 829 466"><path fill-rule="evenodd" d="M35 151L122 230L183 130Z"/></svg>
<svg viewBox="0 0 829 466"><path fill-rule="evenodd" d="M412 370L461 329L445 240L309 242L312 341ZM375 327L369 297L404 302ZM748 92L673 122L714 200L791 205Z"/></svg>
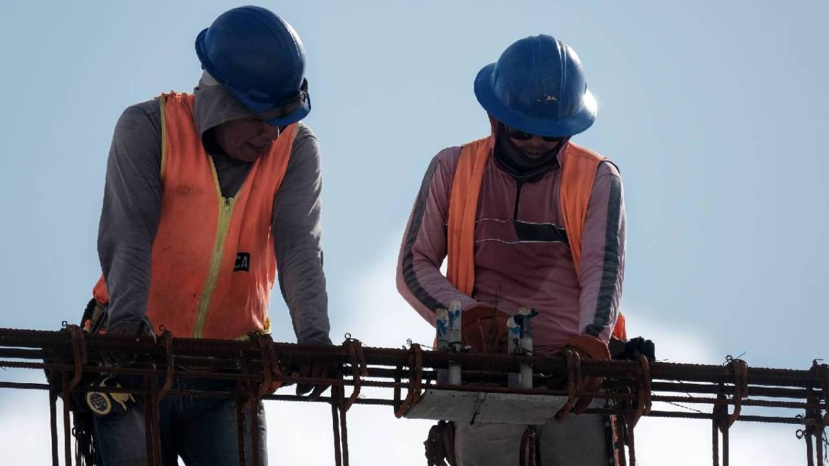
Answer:
<svg viewBox="0 0 829 466"><path fill-rule="evenodd" d="M484 66L475 77L475 97L492 118L526 133L559 138L583 132L596 120L596 100L590 90L584 90L579 111L564 119L536 118L510 109L492 89L492 71L495 63Z"/></svg>

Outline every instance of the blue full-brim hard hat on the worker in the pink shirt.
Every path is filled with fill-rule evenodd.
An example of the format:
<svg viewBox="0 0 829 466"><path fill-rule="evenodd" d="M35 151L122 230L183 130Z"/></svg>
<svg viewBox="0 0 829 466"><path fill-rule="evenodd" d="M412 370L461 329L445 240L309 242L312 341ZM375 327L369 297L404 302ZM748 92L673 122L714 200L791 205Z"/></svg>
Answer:
<svg viewBox="0 0 829 466"><path fill-rule="evenodd" d="M516 41L484 66L475 78L475 96L494 119L540 136L572 136L596 119L579 56L544 34Z"/></svg>

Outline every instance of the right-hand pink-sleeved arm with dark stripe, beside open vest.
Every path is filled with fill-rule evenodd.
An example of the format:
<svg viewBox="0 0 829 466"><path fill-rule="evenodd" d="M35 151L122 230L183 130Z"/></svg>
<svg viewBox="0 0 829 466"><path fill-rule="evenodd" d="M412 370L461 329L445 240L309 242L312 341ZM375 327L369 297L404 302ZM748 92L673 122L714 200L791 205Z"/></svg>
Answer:
<svg viewBox="0 0 829 466"><path fill-rule="evenodd" d="M596 172L584 221L579 328L607 343L622 297L625 211L622 179L611 163Z"/></svg>

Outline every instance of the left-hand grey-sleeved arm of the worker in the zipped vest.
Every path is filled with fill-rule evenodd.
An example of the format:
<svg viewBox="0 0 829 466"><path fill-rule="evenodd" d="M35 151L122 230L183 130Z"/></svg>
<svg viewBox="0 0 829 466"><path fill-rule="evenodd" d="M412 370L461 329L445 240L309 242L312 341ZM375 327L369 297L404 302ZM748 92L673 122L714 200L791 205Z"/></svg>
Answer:
<svg viewBox="0 0 829 466"><path fill-rule="evenodd" d="M158 100L124 110L109 148L98 256L109 289L107 331L138 328L147 310L153 240L161 218Z"/></svg>

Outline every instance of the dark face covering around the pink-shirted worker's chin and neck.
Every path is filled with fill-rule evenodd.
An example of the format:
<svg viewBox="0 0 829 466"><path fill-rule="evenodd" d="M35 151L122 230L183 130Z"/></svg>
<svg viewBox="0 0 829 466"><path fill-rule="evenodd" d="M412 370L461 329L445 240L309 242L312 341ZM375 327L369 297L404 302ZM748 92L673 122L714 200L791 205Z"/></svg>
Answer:
<svg viewBox="0 0 829 466"><path fill-rule="evenodd" d="M543 177L547 172L559 167L559 152L568 139L564 138L555 148L542 154L540 157L530 157L521 148L518 148L507 134L507 128L502 123L497 124L495 147L492 153L495 163L504 172L518 180L533 182Z"/></svg>

